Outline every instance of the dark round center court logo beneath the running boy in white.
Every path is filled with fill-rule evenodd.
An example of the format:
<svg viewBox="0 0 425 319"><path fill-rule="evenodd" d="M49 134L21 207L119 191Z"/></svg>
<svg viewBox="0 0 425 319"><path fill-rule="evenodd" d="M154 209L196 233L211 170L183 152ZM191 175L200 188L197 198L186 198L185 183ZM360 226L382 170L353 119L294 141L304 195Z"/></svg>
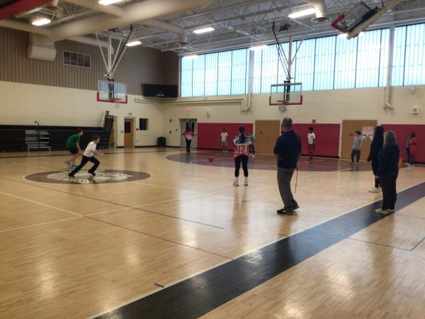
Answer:
<svg viewBox="0 0 425 319"><path fill-rule="evenodd" d="M106 184L138 181L151 177L151 174L148 173L118 171L114 169L98 169L96 176L91 175L87 170L81 170L74 177L68 177L68 173L69 171L44 172L27 175L25 179L28 179L28 181L55 184Z"/></svg>

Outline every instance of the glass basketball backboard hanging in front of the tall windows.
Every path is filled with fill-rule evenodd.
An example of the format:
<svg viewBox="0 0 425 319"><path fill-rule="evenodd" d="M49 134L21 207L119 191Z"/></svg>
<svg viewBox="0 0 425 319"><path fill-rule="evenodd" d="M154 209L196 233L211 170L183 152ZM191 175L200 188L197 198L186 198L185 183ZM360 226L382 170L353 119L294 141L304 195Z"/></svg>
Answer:
<svg viewBox="0 0 425 319"><path fill-rule="evenodd" d="M269 105L300 105L302 104L302 83L272 84Z"/></svg>

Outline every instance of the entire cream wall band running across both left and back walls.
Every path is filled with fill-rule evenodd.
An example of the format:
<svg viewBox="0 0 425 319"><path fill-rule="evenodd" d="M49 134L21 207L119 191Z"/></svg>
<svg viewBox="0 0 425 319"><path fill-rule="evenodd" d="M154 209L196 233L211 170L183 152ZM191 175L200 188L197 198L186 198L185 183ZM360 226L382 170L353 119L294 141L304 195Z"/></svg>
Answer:
<svg viewBox="0 0 425 319"><path fill-rule="evenodd" d="M167 145L180 146L181 118L196 118L198 123L255 123L290 116L298 123L376 119L378 123L425 124L425 86L417 86L413 94L407 87L393 88L394 110L383 109L384 88L306 91L303 95L303 105L288 106L285 112L268 105L268 94L254 94L251 111L242 111L242 103L245 108L248 103L246 96L181 98L163 103L128 96L128 104L116 109L113 103L96 101L96 91L0 82L0 124L33 125L39 121L40 125L99 126L108 110L118 116L118 146L124 145L121 131L125 117L135 118L136 127L139 118L149 118L149 130L135 132L137 146L156 145L159 136L166 138ZM412 106L419 106L421 112L413 115Z"/></svg>

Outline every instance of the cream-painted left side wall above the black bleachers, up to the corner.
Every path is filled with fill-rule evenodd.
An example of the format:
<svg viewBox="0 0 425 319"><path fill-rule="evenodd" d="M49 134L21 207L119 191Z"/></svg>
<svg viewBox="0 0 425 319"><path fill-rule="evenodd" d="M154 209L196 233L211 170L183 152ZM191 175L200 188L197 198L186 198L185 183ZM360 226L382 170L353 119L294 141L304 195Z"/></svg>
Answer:
<svg viewBox="0 0 425 319"><path fill-rule="evenodd" d="M0 82L0 124L57 126L101 126L105 111L118 116L118 141L124 145L124 118L149 119L149 130L135 131L135 145L157 145L162 135L162 108L159 103L135 103L137 96L128 96L128 104L96 101L96 91L67 89L57 86Z"/></svg>

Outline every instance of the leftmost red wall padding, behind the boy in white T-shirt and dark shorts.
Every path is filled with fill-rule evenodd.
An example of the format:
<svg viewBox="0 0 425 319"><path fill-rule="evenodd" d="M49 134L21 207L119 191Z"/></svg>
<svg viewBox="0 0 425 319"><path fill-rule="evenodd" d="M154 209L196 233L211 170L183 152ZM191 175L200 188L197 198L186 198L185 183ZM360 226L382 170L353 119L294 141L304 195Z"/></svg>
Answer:
<svg viewBox="0 0 425 319"><path fill-rule="evenodd" d="M221 133L225 128L227 134L227 149L233 150L232 140L239 135L239 126L244 126L245 135L252 130L252 123L198 123L198 147L221 150Z"/></svg>

